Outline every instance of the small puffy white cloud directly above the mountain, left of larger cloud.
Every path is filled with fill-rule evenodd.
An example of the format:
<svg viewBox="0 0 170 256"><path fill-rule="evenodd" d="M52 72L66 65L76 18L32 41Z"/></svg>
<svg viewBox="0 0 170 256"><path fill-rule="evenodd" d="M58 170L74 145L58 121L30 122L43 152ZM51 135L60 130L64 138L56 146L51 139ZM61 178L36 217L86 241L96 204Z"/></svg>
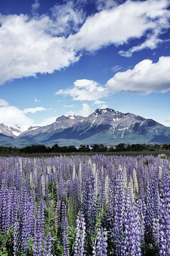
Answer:
<svg viewBox="0 0 170 256"><path fill-rule="evenodd" d="M105 88L93 80L79 79L74 82L72 88L61 89L55 94L61 94L63 96L70 95L73 97L73 100L96 101L99 98L103 98L104 91Z"/></svg>

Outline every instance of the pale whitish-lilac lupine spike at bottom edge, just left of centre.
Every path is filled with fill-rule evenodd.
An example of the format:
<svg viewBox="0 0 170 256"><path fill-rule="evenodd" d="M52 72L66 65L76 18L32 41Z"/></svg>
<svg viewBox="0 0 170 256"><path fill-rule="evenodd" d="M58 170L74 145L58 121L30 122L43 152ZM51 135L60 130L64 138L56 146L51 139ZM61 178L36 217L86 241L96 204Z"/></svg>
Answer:
<svg viewBox="0 0 170 256"><path fill-rule="evenodd" d="M83 213L79 212L76 220L76 239L74 247L74 256L83 256L85 240L85 221Z"/></svg>

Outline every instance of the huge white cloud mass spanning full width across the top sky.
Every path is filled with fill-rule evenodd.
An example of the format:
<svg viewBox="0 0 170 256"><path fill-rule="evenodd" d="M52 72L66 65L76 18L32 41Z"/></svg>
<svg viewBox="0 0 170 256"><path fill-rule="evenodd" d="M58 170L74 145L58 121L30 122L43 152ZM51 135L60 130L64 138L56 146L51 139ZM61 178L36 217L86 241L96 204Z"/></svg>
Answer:
<svg viewBox="0 0 170 256"><path fill-rule="evenodd" d="M128 0L119 5L107 0L85 20L80 7L65 1L55 5L50 16L0 15L0 84L37 73L51 74L78 61L83 49L93 52L110 44L123 45L146 34L141 45L119 53L131 56L146 47L156 48L160 35L169 28L168 5L168 0ZM36 1L32 10L38 7Z"/></svg>

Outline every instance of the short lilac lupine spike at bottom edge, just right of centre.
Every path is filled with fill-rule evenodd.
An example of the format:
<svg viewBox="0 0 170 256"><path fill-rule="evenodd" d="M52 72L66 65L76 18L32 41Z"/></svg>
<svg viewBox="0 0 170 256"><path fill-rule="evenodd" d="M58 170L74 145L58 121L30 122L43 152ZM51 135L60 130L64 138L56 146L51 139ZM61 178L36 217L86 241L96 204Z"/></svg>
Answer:
<svg viewBox="0 0 170 256"><path fill-rule="evenodd" d="M99 228L96 244L93 246L93 256L107 256L107 231Z"/></svg>

